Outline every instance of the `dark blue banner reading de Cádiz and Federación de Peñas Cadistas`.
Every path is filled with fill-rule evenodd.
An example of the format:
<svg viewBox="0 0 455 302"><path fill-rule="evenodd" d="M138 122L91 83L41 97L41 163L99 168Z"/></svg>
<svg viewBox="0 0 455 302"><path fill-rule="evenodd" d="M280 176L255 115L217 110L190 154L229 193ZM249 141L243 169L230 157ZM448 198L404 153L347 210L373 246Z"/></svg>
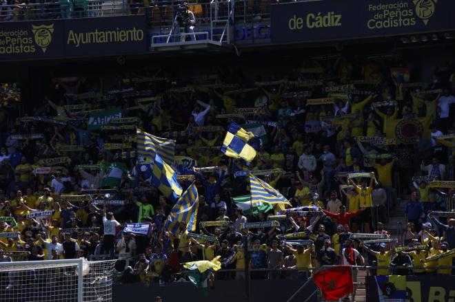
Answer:
<svg viewBox="0 0 455 302"><path fill-rule="evenodd" d="M354 9L353 9L354 8ZM396 36L455 28L450 0L325 0L271 6L272 43Z"/></svg>

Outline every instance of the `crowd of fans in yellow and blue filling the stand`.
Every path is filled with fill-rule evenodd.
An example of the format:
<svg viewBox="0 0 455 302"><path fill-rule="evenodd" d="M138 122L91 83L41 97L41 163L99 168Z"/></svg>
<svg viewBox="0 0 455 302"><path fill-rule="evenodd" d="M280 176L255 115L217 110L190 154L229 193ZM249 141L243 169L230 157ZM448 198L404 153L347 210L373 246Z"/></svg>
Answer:
<svg viewBox="0 0 455 302"><path fill-rule="evenodd" d="M185 280L179 274L181 263L216 256L221 256L223 268L238 269L221 270L219 279L243 279L245 261L257 279L305 278L311 273L309 268L373 261L394 268L381 268L376 274L450 274L450 269L427 267L450 266L451 257L425 266L420 259L455 248L455 219L446 222L445 217L432 215L452 211L454 188L427 186L429 180L455 180L453 140L437 139L454 133L455 69L444 65L432 79L419 79L423 83L413 86L391 76L389 68L394 64L352 63L336 56L308 60L281 77L255 80L234 68L190 80L145 69L118 76L112 85L101 79L54 78L45 102L30 111L28 119L1 109L0 217L13 217L14 222L2 219L0 233L20 235L0 236L0 261L120 257L131 266L125 281L146 283ZM421 91L430 91L426 99L416 97ZM308 104L310 99L327 97L331 99ZM390 103L374 105L384 102ZM218 242L188 237L185 224L175 236L163 228L173 204L151 184L150 172L136 165L136 128L90 131L90 109L81 113L81 109L65 107L83 104L91 110L121 108L123 118L137 118L134 125L139 129L175 138L176 155L192 158L196 168L212 167L190 166L188 174L195 177L199 191L195 233L215 236ZM393 144L376 144L359 139L385 138L392 120L427 116L434 116L429 129L416 130L413 142L403 144L397 139ZM8 124L6 120L11 119L14 123ZM220 151L230 120L240 125L259 123L265 129L261 149L250 165ZM132 147L120 154L103 148L112 142ZM81 149L61 151L66 145ZM70 161L38 172L45 166L41 160L59 157ZM103 186L103 169L78 167L108 162L122 162L129 171L114 186ZM280 226L241 228L243 222L265 222L268 215L285 212L284 206L275 205L266 213L249 209L245 214L232 202L232 197L250 193L248 177L236 172L265 169L281 169L259 177L293 207L304 206L321 215L301 217L290 211L280 218ZM347 173L358 172L371 177L348 183ZM180 182L183 189L190 184ZM65 197L81 195L81 189L100 188L114 191L76 201ZM356 233L387 234L384 224L390 211L397 197L406 194L410 194L405 209L407 230L398 245L424 244L427 248L394 255L394 244L363 245L353 239ZM95 199L124 202L103 206ZM50 212L33 215L43 211ZM230 223L200 225L223 221ZM124 233L127 222L150 224L150 232L147 236ZM312 244L283 240L285 234L304 232ZM245 237L248 255L243 250ZM265 268L270 271L254 270Z"/></svg>

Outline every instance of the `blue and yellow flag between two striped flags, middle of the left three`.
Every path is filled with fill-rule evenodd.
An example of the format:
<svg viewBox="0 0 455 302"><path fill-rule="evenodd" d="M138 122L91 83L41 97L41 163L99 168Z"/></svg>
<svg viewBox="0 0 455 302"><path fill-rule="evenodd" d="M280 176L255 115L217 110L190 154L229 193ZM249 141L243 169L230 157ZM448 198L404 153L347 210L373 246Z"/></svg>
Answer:
<svg viewBox="0 0 455 302"><path fill-rule="evenodd" d="M172 202L175 202L182 194L182 187L177 182L177 174L166 164L159 155L155 153L155 161L152 169L152 182L156 188L168 197Z"/></svg>

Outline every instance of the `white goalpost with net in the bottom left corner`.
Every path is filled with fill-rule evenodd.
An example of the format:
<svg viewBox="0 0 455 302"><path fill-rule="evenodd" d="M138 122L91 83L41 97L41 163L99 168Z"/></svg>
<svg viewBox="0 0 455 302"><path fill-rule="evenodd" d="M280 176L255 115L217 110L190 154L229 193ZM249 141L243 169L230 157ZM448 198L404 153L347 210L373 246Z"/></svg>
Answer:
<svg viewBox="0 0 455 302"><path fill-rule="evenodd" d="M0 262L0 302L110 302L115 261Z"/></svg>

